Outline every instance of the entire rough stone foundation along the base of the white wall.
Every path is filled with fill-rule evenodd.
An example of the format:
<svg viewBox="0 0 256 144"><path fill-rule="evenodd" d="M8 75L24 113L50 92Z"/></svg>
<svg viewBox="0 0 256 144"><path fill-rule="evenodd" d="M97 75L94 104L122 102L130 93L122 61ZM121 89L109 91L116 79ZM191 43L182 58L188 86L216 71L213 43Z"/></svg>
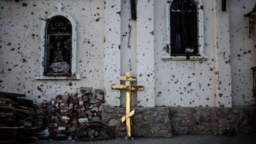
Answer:
<svg viewBox="0 0 256 144"><path fill-rule="evenodd" d="M256 137L256 108L139 107L132 108L133 137L166 137L184 134L248 135ZM101 121L116 137L126 136L121 122L125 108L103 108Z"/></svg>

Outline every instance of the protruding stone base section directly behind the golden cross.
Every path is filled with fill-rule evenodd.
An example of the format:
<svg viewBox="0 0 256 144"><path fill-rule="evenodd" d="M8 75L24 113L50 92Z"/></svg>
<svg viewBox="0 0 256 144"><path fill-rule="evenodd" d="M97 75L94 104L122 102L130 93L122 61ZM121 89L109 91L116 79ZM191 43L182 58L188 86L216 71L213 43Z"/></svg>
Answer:
<svg viewBox="0 0 256 144"><path fill-rule="evenodd" d="M132 109L136 111L132 117L133 137L173 137L168 107ZM116 137L123 138L126 136L126 123L121 120L124 115L125 108L103 108L101 121L110 125Z"/></svg>

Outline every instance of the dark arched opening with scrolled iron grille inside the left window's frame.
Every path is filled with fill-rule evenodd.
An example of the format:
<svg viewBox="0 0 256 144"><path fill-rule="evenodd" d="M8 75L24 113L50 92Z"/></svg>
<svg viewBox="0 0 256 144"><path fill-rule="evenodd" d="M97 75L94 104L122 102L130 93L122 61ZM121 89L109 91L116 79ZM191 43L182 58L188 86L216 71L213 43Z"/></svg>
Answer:
<svg viewBox="0 0 256 144"><path fill-rule="evenodd" d="M72 26L63 17L52 18L46 26L44 76L70 76Z"/></svg>

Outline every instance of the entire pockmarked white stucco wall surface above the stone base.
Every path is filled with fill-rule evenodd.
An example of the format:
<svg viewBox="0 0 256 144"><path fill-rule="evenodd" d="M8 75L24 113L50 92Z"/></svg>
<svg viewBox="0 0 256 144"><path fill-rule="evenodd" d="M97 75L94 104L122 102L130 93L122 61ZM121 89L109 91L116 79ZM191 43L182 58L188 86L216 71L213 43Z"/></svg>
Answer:
<svg viewBox="0 0 256 144"><path fill-rule="evenodd" d="M66 91L93 87L105 89L107 102L119 106L125 105L125 92L112 90L111 84L124 84L119 77L130 70L138 85L145 86L144 91L133 93L134 106L255 105L250 69L255 66L255 32L248 38L244 16L255 2L246 1L244 6L244 1L228 0L227 11L222 12L221 0L201 1L208 59L195 61L162 60L168 0L139 1L137 20L131 20L127 0L105 4L101 0L0 1L0 91L25 93L39 103ZM76 21L76 73L81 79L35 80L41 23L57 11L58 3ZM129 23L131 48L127 47Z"/></svg>

